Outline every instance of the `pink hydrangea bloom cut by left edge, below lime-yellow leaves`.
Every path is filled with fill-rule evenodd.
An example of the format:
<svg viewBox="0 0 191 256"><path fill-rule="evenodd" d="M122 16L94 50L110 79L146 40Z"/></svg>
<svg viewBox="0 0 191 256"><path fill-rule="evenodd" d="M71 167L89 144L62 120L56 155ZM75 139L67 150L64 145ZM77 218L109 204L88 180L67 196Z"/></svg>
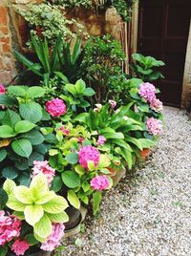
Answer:
<svg viewBox="0 0 191 256"><path fill-rule="evenodd" d="M5 216L5 211L0 211L0 245L5 245L12 238L19 237L21 222L17 217Z"/></svg>

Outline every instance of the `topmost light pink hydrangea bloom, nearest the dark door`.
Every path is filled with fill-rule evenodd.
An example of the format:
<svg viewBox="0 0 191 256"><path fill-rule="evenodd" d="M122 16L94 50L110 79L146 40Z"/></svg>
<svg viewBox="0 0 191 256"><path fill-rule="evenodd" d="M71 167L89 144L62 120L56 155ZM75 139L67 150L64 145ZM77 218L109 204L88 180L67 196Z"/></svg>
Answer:
<svg viewBox="0 0 191 256"><path fill-rule="evenodd" d="M151 102L153 99L156 98L156 88L151 83L141 83L139 85L138 94L142 96L147 101Z"/></svg>

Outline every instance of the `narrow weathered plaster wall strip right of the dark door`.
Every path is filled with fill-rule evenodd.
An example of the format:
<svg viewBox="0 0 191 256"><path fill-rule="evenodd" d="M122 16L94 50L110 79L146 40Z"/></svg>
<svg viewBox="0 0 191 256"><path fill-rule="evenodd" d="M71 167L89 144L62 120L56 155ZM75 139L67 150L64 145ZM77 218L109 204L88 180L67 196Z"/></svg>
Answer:
<svg viewBox="0 0 191 256"><path fill-rule="evenodd" d="M181 108L191 109L191 23L185 59Z"/></svg>

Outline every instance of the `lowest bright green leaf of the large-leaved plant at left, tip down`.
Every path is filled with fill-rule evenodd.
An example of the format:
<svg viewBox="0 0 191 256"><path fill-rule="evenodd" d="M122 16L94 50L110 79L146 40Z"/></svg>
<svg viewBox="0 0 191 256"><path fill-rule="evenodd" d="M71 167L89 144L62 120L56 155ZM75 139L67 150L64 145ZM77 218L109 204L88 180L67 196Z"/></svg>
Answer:
<svg viewBox="0 0 191 256"><path fill-rule="evenodd" d="M29 159L32 154L32 143L29 139L16 139L11 143L11 148L23 158Z"/></svg>

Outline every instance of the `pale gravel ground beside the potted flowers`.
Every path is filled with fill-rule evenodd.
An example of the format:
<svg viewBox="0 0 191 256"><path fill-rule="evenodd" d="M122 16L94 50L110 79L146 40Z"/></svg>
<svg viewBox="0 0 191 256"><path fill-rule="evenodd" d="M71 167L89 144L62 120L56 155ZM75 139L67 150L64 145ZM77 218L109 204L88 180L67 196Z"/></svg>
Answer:
<svg viewBox="0 0 191 256"><path fill-rule="evenodd" d="M191 256L191 121L166 107L152 156L104 198L67 256ZM75 239L82 245L74 245Z"/></svg>

